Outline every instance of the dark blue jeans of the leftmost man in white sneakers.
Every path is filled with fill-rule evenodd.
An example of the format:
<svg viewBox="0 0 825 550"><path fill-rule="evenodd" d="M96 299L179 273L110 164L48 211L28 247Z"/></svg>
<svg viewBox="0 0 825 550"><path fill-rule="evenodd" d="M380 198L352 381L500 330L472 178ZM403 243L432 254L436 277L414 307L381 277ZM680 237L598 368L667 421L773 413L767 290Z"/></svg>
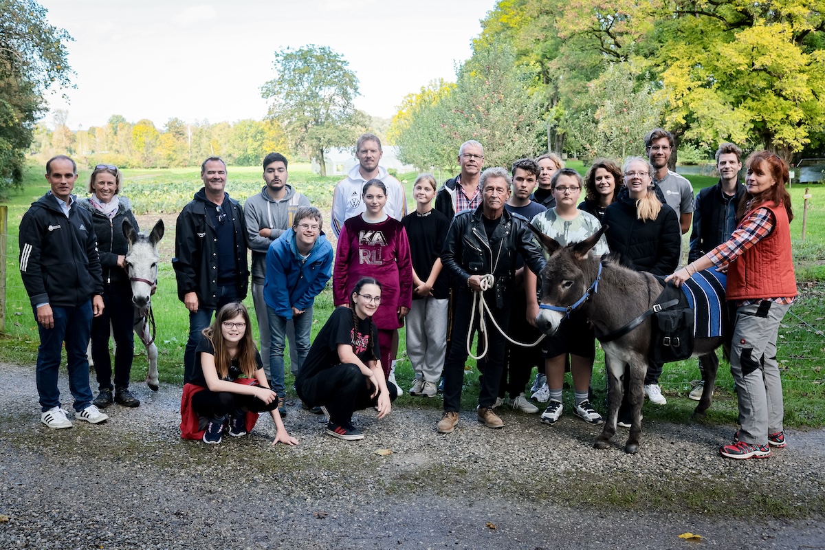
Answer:
<svg viewBox="0 0 825 550"><path fill-rule="evenodd" d="M37 308L35 319L37 318ZM63 343L66 342L68 389L74 397L74 410L82 411L92 404L92 388L89 386L89 360L86 346L92 333L92 300L73 308L52 306L54 328L37 323L40 346L37 348L37 393L40 410L45 412L60 407L60 390L57 378Z"/></svg>

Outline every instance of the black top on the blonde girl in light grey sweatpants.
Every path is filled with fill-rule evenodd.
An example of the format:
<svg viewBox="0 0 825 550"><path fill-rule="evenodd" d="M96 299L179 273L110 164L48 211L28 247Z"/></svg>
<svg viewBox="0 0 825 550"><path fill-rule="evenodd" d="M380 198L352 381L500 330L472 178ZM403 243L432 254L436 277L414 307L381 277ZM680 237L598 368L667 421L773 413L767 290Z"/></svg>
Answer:
<svg viewBox="0 0 825 550"><path fill-rule="evenodd" d="M444 239L447 230L450 229L450 219L436 209L431 209L427 214L408 214L401 220L404 229L407 230L407 238L410 243L410 255L413 256L413 269L421 280L430 278L432 265L436 258L441 256L441 248L444 247ZM436 278L436 284L432 285L432 296L436 299L449 298L450 286L446 277L446 270ZM413 299L420 297L413 293Z"/></svg>

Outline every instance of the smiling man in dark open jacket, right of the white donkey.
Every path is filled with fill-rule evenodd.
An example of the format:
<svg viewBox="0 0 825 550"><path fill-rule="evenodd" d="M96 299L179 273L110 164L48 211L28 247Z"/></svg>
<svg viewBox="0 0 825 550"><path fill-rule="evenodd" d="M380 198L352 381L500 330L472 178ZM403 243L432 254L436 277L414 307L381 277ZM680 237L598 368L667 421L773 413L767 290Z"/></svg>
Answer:
<svg viewBox="0 0 825 550"><path fill-rule="evenodd" d="M225 304L247 297L247 227L243 209L229 198L226 163L209 157L200 166L204 186L177 216L175 257L177 298L189 310L189 340L183 354L184 380L195 367L200 332Z"/></svg>

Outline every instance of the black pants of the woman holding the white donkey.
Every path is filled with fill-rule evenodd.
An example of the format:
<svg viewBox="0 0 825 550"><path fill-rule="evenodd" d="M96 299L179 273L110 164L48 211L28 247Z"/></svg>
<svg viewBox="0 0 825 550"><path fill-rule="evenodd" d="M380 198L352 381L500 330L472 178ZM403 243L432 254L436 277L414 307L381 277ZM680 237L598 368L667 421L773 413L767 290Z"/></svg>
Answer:
<svg viewBox="0 0 825 550"><path fill-rule="evenodd" d="M92 360L95 362L97 386L112 389L109 334L115 336L115 388L129 388L134 357L134 305L129 283L103 286L103 313L92 319Z"/></svg>

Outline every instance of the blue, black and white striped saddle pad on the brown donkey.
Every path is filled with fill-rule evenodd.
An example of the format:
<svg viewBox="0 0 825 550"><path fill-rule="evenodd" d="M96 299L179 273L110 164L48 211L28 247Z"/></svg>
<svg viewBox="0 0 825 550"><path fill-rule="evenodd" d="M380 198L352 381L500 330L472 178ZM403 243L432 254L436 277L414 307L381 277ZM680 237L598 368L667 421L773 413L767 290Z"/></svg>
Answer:
<svg viewBox="0 0 825 550"><path fill-rule="evenodd" d="M728 277L719 273L716 268L697 271L685 284L681 291L685 293L688 303L691 304L695 317L695 336L707 338L722 336L725 323L725 288Z"/></svg>

